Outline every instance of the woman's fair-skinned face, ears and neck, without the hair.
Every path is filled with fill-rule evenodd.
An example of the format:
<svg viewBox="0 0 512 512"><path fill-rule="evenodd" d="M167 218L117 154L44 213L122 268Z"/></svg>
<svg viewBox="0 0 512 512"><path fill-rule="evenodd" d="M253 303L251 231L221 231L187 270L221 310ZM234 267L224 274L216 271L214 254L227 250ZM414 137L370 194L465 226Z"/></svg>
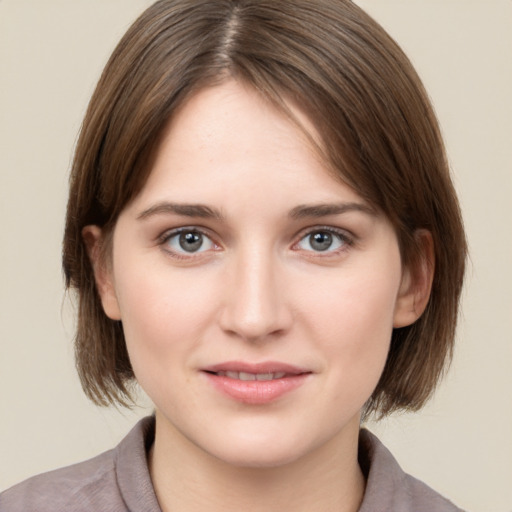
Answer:
<svg viewBox="0 0 512 512"><path fill-rule="evenodd" d="M119 216L111 261L98 227L84 238L155 404L163 511L359 508L361 409L430 266L403 268L386 217L296 126L235 81L200 91Z"/></svg>

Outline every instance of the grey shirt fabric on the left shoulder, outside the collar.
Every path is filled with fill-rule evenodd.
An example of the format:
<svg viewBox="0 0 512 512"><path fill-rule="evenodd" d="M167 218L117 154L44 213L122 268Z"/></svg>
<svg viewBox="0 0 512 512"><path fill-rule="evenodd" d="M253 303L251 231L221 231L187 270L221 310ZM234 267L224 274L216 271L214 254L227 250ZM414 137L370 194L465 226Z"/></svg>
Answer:
<svg viewBox="0 0 512 512"><path fill-rule="evenodd" d="M0 494L2 512L79 512L116 508L113 450L73 466L49 471ZM116 496L117 494L117 496Z"/></svg>

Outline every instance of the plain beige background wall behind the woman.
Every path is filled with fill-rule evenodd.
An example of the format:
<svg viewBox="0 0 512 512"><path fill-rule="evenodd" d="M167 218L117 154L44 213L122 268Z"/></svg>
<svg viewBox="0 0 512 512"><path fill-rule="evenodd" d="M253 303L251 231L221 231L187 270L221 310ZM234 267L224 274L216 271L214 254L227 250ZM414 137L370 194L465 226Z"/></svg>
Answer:
<svg viewBox="0 0 512 512"><path fill-rule="evenodd" d="M81 393L60 242L72 148L148 0L0 0L0 488L112 447L138 416ZM421 413L372 426L474 512L512 511L512 2L360 0L439 114L471 246L452 370Z"/></svg>

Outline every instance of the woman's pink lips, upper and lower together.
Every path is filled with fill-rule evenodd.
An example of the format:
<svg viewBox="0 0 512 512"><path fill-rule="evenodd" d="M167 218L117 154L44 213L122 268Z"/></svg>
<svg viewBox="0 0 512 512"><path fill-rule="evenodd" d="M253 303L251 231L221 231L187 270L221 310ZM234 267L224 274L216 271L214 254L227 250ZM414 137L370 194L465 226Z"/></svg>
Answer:
<svg viewBox="0 0 512 512"><path fill-rule="evenodd" d="M302 386L313 373L309 369L277 361L262 363L227 361L202 368L201 371L214 389L235 401L251 405L263 405L276 401ZM218 375L219 372L273 373L284 374L284 376L272 380L238 380L226 375Z"/></svg>

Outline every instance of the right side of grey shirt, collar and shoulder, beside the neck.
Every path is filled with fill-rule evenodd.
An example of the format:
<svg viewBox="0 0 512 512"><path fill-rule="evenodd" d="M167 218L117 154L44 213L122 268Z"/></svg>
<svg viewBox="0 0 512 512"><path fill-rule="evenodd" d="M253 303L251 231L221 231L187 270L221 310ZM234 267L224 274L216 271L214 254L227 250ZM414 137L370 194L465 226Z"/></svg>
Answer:
<svg viewBox="0 0 512 512"><path fill-rule="evenodd" d="M405 473L389 450L361 430L359 461L367 487L359 512L462 512L428 485Z"/></svg>

